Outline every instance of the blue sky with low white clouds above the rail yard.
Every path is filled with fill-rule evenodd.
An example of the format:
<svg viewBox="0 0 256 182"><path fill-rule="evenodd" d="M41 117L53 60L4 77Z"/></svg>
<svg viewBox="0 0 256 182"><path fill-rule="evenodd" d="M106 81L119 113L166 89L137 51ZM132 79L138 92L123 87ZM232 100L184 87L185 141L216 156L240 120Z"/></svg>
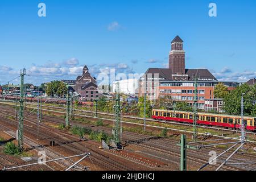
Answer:
<svg viewBox="0 0 256 182"><path fill-rule="evenodd" d="M38 4L46 4L46 17ZM208 5L217 5L217 17ZM184 40L186 68L208 68L219 80L256 77L256 1L0 2L0 84L26 68L26 82L164 68L171 40ZM18 80L14 80L14 83Z"/></svg>

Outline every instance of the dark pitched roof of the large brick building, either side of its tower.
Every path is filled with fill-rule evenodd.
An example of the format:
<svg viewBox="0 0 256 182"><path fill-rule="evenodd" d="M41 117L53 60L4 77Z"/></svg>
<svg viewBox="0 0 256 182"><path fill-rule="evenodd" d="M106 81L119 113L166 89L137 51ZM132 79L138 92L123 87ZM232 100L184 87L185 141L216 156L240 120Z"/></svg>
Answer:
<svg viewBox="0 0 256 182"><path fill-rule="evenodd" d="M172 69L168 68L149 68L146 71L146 75L151 73L152 76L154 74L159 74L159 78L164 78L165 81L174 81L172 79ZM185 75L188 75L188 81L193 81L193 78L197 77L201 80L216 80L217 78L209 72L208 69L185 69Z"/></svg>

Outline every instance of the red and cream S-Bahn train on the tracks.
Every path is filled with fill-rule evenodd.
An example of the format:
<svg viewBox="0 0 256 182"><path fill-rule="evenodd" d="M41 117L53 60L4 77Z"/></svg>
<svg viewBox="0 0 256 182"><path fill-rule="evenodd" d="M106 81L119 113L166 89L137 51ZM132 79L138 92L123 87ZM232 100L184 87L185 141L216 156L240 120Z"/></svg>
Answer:
<svg viewBox="0 0 256 182"><path fill-rule="evenodd" d="M193 113L173 110L152 110L152 119L164 121L177 121L181 123L193 123ZM205 126L218 126L226 129L239 130L241 127L241 116L198 113L197 124ZM245 130L256 132L256 118L244 117Z"/></svg>

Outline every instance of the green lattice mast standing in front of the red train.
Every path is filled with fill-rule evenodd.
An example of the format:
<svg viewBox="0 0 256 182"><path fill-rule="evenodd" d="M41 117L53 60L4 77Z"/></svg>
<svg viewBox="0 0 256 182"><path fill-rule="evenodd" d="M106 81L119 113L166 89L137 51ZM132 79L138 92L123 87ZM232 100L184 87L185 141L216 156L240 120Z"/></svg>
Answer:
<svg viewBox="0 0 256 182"><path fill-rule="evenodd" d="M198 106L198 94L197 94L197 80L198 78L195 78L195 90L194 90L194 102L193 102L193 142L196 142L196 138L197 138L197 106Z"/></svg>

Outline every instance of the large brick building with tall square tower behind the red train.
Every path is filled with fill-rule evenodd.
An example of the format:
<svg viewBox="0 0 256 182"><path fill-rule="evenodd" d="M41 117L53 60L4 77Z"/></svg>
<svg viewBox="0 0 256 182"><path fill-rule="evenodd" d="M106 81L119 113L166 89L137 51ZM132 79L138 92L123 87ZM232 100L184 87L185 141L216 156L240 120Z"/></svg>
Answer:
<svg viewBox="0 0 256 182"><path fill-rule="evenodd" d="M218 80L208 69L185 69L183 40L176 36L171 42L169 68L149 68L139 81L139 96L146 93L150 100L169 96L172 100L192 105L195 78L198 78L199 108L204 109L205 100L214 99L214 86L218 84ZM237 86L236 82L224 84L229 90Z"/></svg>

